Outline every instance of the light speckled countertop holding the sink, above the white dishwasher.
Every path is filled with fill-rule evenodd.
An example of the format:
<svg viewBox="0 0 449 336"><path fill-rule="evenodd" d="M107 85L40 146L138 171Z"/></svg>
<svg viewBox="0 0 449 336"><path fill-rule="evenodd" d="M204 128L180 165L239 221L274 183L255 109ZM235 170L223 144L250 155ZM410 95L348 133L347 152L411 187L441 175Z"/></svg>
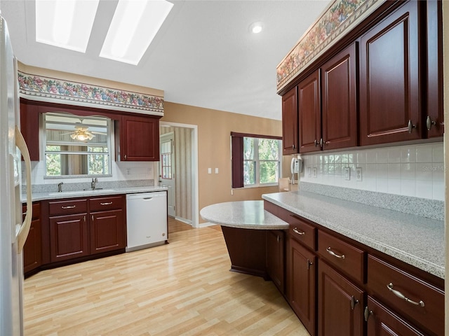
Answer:
<svg viewBox="0 0 449 336"><path fill-rule="evenodd" d="M63 198L74 198L74 197L153 193L155 191L163 191L163 190L167 190L167 188L159 186L143 186L143 187L114 187L114 188L104 188L95 190L70 190L70 191L62 191L62 193L58 192L32 193L32 200L34 202L41 200L60 200ZM20 198L22 202L26 202L27 200L27 196L24 194L22 194Z"/></svg>

